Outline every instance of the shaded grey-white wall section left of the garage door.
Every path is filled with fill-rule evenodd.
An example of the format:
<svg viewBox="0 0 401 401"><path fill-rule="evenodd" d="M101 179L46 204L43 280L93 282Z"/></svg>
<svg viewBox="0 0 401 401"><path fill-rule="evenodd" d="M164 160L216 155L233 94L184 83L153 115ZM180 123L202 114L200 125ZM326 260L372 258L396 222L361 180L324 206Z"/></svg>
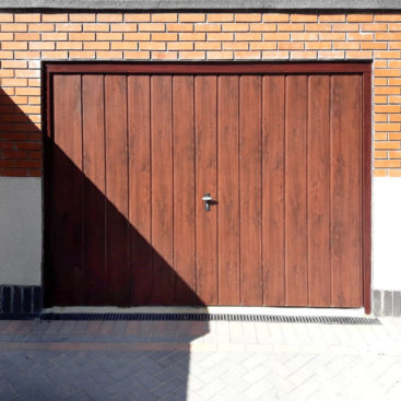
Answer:
<svg viewBox="0 0 401 401"><path fill-rule="evenodd" d="M0 177L0 285L40 285L42 178Z"/></svg>

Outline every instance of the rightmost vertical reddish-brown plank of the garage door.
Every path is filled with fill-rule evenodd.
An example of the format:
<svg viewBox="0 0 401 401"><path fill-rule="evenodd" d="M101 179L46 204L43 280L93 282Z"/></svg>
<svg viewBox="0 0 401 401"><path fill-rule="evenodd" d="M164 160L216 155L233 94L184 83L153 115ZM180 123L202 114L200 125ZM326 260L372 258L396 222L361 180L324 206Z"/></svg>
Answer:
<svg viewBox="0 0 401 401"><path fill-rule="evenodd" d="M361 76L333 75L331 266L333 306L361 306Z"/></svg>

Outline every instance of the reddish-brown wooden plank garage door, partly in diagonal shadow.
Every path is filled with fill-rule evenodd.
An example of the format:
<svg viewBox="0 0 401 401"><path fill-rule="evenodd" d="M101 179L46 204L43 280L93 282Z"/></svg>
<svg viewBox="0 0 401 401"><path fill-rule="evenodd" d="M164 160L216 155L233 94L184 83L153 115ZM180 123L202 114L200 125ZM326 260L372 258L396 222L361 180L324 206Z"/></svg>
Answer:
<svg viewBox="0 0 401 401"><path fill-rule="evenodd" d="M49 305L363 305L362 73L96 71L49 74Z"/></svg>

